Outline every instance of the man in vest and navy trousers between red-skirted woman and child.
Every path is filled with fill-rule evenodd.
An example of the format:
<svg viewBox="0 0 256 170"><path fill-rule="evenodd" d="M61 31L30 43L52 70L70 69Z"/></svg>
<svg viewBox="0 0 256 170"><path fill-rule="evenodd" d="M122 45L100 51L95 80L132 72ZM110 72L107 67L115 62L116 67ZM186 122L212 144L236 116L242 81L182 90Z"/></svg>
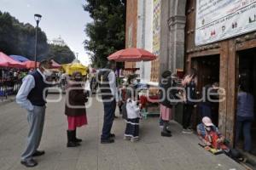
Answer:
<svg viewBox="0 0 256 170"><path fill-rule="evenodd" d="M100 82L102 102L104 106L104 121L101 136L102 144L113 143L113 138L115 137L115 135L111 133L111 128L113 125L116 104L118 103L120 105L114 73L115 69L115 62L109 61L107 66L98 73L98 81Z"/></svg>

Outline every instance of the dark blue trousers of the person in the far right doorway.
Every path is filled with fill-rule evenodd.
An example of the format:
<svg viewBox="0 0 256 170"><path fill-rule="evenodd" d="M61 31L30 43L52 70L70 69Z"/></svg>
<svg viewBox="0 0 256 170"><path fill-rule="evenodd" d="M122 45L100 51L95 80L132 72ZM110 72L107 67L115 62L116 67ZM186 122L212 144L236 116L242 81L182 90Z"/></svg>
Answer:
<svg viewBox="0 0 256 170"><path fill-rule="evenodd" d="M251 127L253 123L252 117L236 117L236 144L239 141L241 130L244 138L244 150L252 150L252 137L251 137Z"/></svg>

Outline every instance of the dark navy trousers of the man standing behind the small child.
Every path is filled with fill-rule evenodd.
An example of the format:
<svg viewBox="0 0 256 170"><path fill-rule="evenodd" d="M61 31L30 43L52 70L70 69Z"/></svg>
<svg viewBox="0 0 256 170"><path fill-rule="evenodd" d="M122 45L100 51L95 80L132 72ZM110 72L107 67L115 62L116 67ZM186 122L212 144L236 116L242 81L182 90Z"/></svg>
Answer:
<svg viewBox="0 0 256 170"><path fill-rule="evenodd" d="M104 122L102 127L102 139L108 139L113 125L116 101L113 99L109 102L103 102L104 105Z"/></svg>

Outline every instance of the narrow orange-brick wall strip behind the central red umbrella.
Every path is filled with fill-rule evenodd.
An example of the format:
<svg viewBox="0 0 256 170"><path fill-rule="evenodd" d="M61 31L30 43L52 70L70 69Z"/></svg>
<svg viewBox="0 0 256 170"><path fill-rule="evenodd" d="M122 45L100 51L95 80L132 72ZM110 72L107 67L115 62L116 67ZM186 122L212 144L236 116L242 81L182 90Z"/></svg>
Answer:
<svg viewBox="0 0 256 170"><path fill-rule="evenodd" d="M125 47L137 47L137 0L126 1ZM125 62L125 68L135 68L136 63Z"/></svg>

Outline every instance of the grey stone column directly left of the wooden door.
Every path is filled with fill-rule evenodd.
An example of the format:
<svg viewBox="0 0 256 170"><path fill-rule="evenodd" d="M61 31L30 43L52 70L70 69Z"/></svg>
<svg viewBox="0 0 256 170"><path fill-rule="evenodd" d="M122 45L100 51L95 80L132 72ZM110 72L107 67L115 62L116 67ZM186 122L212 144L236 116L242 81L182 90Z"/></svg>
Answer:
<svg viewBox="0 0 256 170"><path fill-rule="evenodd" d="M183 69L186 0L161 1L160 73Z"/></svg>

